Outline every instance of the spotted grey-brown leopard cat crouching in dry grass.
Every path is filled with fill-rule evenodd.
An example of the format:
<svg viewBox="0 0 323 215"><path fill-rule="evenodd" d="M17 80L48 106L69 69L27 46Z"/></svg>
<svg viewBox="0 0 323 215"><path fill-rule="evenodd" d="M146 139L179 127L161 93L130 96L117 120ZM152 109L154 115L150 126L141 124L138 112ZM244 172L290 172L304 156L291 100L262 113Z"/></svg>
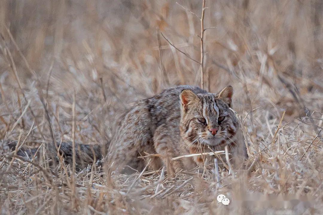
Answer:
<svg viewBox="0 0 323 215"><path fill-rule="evenodd" d="M214 94L182 85L138 101L116 123L112 140L104 146L108 153L101 161L114 171L129 172L141 171L150 160L148 169L166 166L167 171L173 172L213 164L214 157L201 152L224 150L226 145L230 155L235 156L241 151L241 144L236 138L238 119L230 109L232 96L231 86ZM10 145L15 148L15 142ZM70 142L62 142L57 148L65 161L72 162ZM55 150L53 154L57 154ZM22 148L17 155L33 156L35 151ZM102 158L102 151L99 145L76 143L79 169ZM174 157L197 153L201 155L172 161ZM225 161L223 155L219 158Z"/></svg>

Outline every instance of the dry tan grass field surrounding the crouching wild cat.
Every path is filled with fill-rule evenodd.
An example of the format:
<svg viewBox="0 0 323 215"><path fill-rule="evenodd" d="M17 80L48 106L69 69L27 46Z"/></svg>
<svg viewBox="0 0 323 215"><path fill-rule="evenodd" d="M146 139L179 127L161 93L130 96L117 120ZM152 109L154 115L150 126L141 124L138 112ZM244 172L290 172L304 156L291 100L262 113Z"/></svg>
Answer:
<svg viewBox="0 0 323 215"><path fill-rule="evenodd" d="M160 33L200 62L202 1L0 3L0 139L43 153L2 144L1 214L323 214L322 1L205 4L204 86L234 87L249 156L219 187L207 171L73 173L46 154L53 141L103 144L129 103L200 85L200 64Z"/></svg>

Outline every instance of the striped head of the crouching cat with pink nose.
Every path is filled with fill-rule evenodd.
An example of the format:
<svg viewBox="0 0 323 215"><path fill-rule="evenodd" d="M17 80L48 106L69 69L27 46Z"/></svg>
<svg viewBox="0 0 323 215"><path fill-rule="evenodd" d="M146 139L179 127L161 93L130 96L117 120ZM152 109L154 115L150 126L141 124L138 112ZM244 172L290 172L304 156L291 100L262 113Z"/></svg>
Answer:
<svg viewBox="0 0 323 215"><path fill-rule="evenodd" d="M188 144L200 142L210 146L233 142L238 119L229 109L232 95L231 86L218 94L183 90L180 94L182 139Z"/></svg>

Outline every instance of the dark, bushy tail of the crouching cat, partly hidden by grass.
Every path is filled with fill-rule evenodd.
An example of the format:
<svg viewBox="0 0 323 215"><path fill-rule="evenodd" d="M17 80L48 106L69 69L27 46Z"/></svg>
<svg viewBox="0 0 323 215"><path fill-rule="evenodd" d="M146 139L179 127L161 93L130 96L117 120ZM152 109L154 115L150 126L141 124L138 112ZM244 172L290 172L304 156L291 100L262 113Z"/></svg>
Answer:
<svg viewBox="0 0 323 215"><path fill-rule="evenodd" d="M59 154L64 158L66 164L73 163L73 145L72 142L61 142L56 143L55 149L49 147L49 154L54 159L58 161L57 149ZM16 151L17 141L10 141L6 144L9 149ZM99 144L78 144L75 143L75 163L77 169L84 169L88 165L101 165L102 159L104 158L103 149ZM48 152L47 152L48 153ZM30 148L27 146L20 147L18 146L17 155L21 157L27 157L32 159L35 155L36 157L41 156L40 150L38 148Z"/></svg>

